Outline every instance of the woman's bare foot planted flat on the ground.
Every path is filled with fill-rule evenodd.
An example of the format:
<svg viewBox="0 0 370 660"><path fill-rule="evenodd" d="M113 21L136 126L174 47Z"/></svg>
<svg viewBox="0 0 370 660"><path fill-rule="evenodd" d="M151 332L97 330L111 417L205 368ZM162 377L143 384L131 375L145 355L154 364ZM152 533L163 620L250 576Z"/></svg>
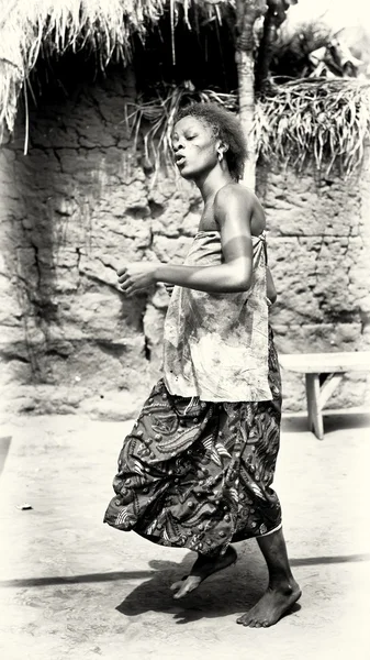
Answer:
<svg viewBox="0 0 370 660"><path fill-rule="evenodd" d="M236 623L249 628L273 626L296 603L301 593L294 580L279 587L269 586L257 605L240 616Z"/></svg>

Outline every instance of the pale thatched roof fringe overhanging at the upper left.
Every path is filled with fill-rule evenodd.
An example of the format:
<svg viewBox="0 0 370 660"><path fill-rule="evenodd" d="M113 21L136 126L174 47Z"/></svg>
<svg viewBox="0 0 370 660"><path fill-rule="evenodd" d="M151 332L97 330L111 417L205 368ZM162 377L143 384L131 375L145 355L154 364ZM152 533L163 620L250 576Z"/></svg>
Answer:
<svg viewBox="0 0 370 660"><path fill-rule="evenodd" d="M124 64L132 56L132 36L144 37L166 11L175 25L179 10L218 16L233 0L0 0L0 138L12 131L23 82L40 52L63 54L68 48L99 52L102 68L111 57Z"/></svg>

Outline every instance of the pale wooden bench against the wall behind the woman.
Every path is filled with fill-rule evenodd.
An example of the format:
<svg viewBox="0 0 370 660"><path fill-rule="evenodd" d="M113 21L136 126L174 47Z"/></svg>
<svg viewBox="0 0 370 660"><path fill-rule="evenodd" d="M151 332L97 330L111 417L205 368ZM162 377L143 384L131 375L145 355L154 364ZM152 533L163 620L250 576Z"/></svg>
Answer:
<svg viewBox="0 0 370 660"><path fill-rule="evenodd" d="M309 426L323 440L323 408L345 372L370 371L370 351L348 353L296 353L279 356L280 365L305 375Z"/></svg>

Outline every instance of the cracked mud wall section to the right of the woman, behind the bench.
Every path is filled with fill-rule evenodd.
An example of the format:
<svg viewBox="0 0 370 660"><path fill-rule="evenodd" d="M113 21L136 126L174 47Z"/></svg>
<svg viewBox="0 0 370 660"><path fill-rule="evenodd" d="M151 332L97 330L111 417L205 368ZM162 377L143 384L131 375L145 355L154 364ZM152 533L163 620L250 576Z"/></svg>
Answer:
<svg viewBox="0 0 370 660"><path fill-rule="evenodd" d="M259 172L278 290L271 321L283 353L369 350L370 158L348 182ZM304 408L304 378L283 374L285 407ZM347 373L328 407L359 406L367 375Z"/></svg>

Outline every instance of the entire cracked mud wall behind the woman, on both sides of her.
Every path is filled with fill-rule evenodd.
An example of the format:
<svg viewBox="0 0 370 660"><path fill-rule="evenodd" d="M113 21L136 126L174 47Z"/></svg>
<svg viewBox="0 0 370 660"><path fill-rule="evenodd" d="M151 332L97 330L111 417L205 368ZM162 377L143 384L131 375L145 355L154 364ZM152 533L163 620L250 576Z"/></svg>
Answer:
<svg viewBox="0 0 370 660"><path fill-rule="evenodd" d="M132 156L123 121L128 77L80 86L31 116L30 150L0 152L0 351L3 413L134 415L160 370L168 302L158 286L125 299L125 260L181 260L200 199L183 182L156 182ZM369 162L361 177L317 184L259 168L279 292L272 312L282 352L369 345ZM348 374L330 406L359 405L362 374ZM301 376L284 374L285 409L304 408Z"/></svg>

